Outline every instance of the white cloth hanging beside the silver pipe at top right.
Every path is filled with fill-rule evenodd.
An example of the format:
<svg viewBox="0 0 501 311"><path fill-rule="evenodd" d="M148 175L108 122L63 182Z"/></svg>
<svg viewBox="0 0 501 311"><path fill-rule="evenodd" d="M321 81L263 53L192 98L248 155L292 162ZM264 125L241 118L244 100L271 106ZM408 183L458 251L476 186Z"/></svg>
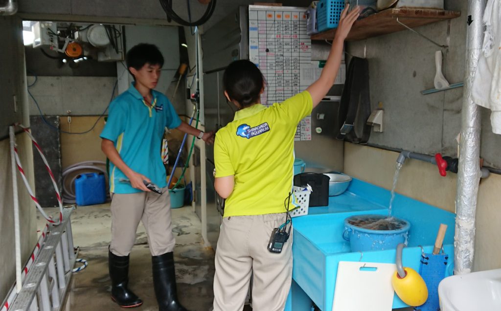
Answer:
<svg viewBox="0 0 501 311"><path fill-rule="evenodd" d="M488 0L482 23L485 32L472 97L475 104L491 110L492 132L501 134L501 0Z"/></svg>

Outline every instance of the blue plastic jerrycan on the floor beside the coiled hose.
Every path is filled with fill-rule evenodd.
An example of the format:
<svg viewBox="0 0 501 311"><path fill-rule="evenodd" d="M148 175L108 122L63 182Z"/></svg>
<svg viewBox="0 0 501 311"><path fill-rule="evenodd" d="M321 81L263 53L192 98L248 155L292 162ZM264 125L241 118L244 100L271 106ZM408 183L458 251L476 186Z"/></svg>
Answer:
<svg viewBox="0 0 501 311"><path fill-rule="evenodd" d="M77 205L94 205L106 202L106 182L103 173L84 173L75 180Z"/></svg>

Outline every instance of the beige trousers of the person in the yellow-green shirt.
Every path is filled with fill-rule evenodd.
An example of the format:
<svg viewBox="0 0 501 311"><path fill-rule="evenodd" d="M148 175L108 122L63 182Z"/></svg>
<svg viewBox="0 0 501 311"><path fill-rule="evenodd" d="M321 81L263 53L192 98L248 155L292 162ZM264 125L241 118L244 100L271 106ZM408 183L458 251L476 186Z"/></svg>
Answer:
<svg viewBox="0 0 501 311"><path fill-rule="evenodd" d="M267 248L273 228L284 221L285 213L223 218L215 257L214 311L241 311L250 273L253 310L285 308L292 280L293 230L281 253Z"/></svg>

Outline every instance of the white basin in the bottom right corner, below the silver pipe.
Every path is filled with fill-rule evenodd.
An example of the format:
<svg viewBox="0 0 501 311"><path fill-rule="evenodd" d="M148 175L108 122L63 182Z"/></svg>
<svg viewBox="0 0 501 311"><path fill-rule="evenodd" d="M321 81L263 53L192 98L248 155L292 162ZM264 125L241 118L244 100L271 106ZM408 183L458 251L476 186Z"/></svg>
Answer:
<svg viewBox="0 0 501 311"><path fill-rule="evenodd" d="M441 311L501 310L501 269L446 277L438 296Z"/></svg>

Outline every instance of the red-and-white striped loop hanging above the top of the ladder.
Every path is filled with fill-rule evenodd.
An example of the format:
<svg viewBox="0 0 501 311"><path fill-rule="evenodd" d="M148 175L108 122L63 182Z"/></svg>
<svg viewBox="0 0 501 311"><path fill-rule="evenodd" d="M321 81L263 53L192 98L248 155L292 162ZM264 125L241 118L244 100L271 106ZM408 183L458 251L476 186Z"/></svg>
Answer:
<svg viewBox="0 0 501 311"><path fill-rule="evenodd" d="M21 174L21 177L23 178L26 189L30 193L32 200L35 202L35 205L37 206L40 213L45 217L45 219L47 219L47 221L49 221L50 223L52 223L54 225L58 225L63 221L63 202L61 201L61 194L60 194L60 191L58 189L58 185L56 183L56 178L54 178L54 174L52 173L52 170L49 167L49 163L47 162L47 159L45 158L44 152L42 151L42 148L40 148L40 145L37 143L37 141L35 140L35 138L31 134L30 129L23 126L20 123L15 123L14 126L19 126L20 128L23 129L23 131L25 131L28 134L28 136L31 138L31 140L33 142L33 145L37 148L38 153L42 157L42 161L44 161L45 168L47 169L47 172L49 172L49 175L51 176L52 185L54 186L54 189L56 190L56 198L58 199L58 203L59 203L59 221L52 220L52 218L47 216L47 214L44 212L44 210L42 209L42 206L40 206L38 199L35 197L35 194L33 193L32 189L30 187L30 183L28 182L28 179L26 179L25 172L23 170L23 166L21 165L21 160L19 159L18 148L14 148L14 151L16 153L16 163L18 165L18 170Z"/></svg>

